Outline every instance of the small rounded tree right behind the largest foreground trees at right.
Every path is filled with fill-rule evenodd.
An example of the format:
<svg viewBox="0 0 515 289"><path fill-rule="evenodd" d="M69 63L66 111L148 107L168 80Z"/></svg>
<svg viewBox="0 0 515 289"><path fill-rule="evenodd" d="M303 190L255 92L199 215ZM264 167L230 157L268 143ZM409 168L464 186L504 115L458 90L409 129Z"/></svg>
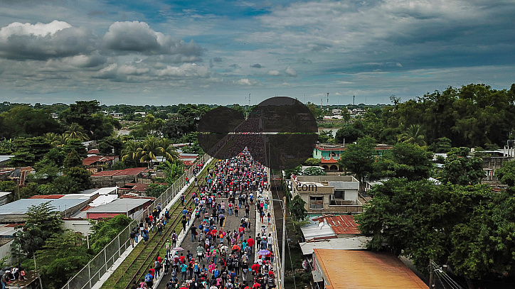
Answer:
<svg viewBox="0 0 515 289"><path fill-rule="evenodd" d="M484 178L483 160L469 156L469 148L452 148L447 153L443 170L440 172L442 182L459 185L479 184Z"/></svg>

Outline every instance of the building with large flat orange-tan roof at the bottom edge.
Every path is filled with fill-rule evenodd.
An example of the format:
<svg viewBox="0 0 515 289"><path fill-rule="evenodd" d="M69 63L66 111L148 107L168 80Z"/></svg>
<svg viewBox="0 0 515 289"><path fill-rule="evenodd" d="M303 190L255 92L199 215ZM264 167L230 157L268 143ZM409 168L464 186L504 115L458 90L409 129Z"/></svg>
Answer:
<svg viewBox="0 0 515 289"><path fill-rule="evenodd" d="M321 289L429 288L393 253L313 249L313 280Z"/></svg>

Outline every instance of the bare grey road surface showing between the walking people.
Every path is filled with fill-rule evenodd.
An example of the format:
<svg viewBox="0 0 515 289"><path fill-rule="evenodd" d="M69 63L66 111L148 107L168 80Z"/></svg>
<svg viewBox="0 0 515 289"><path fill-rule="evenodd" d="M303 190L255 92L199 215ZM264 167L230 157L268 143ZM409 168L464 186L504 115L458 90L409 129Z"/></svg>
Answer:
<svg viewBox="0 0 515 289"><path fill-rule="evenodd" d="M228 212L228 208L227 208L228 199L227 198L223 198L223 197L217 197L216 198L216 202L221 202L222 200L225 203L225 222L223 224L223 230L224 231L227 231L227 230L234 231L236 229L238 231L238 227L240 226L240 219L242 217L245 217L245 208L242 207L240 209L240 212L238 213L239 217L235 217L234 212L233 212L232 215L229 215L228 214L229 213ZM238 198L236 198L236 200L238 200ZM236 201L236 203L238 204L238 201ZM210 212L211 212L211 210L210 210ZM253 239L255 239L255 236L256 236L256 233L255 233L255 231L256 231L255 230L256 229L255 228L255 224L256 224L256 222L255 222L256 221L255 202L253 203L253 205L250 206L249 219L250 219L250 223L252 224L252 226L250 227L250 231L248 231L248 229L247 229L247 231L245 232L244 238L248 239L248 236L252 236ZM196 219L194 221L194 224L198 228L198 225L200 224L200 221L198 219ZM218 229L219 229L219 227L218 227ZM177 232L177 233L179 233L179 232ZM218 241L217 241L217 243L218 243ZM227 242L225 241L224 244L226 245ZM196 239L196 241L191 242L191 233L190 233L190 231L186 232L184 240L178 246L181 246L181 248L184 249L184 251L178 252L179 256L180 256L181 253L184 253L184 256L186 256L187 251L189 250L189 251L191 251L191 253L193 253L193 258L196 258L196 248L198 246L198 239ZM254 250L254 252L255 252L255 250ZM218 258L218 260L220 260L220 258ZM254 263L254 254L251 254L250 262L249 262L249 267L253 263ZM206 265L206 268L209 265L207 263L207 261L206 261L206 258L204 258L203 261L201 261L200 264L201 264L201 266L202 265ZM219 264L217 264L217 265L220 268ZM179 280L180 280L180 274L178 274L178 277L179 277ZM169 270L169 272L167 274L164 274L164 276L161 278L157 288L158 289L166 289L166 283L170 280L170 278L171 278L171 274L170 274L170 270ZM248 283L250 282L251 285L252 285L252 278L253 278L252 274L248 273L247 274L247 281L248 281ZM240 275L238 276L238 280L240 280L240 282L243 283L243 273L242 273L241 270L240 270ZM179 285L180 285L180 283L179 283ZM155 287L155 285L154 285L154 287Z"/></svg>

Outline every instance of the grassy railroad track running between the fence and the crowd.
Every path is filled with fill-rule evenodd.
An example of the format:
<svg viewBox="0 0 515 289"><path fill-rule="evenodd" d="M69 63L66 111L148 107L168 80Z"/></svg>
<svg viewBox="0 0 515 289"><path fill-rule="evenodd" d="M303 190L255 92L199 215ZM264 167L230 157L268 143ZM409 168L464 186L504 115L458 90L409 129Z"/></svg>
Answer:
<svg viewBox="0 0 515 289"><path fill-rule="evenodd" d="M199 184L206 182L204 176L207 174L210 168L213 168L213 163L216 162L212 162L202 170L200 175L198 175ZM190 186L183 194L186 196L186 207L193 204L192 192L195 190L195 188L196 186ZM159 251L164 249L166 239L171 235L171 232L174 229L177 229L177 227L182 229L182 226L179 226L182 219L182 209L183 206L181 206L181 203L176 202L176 204L174 204L169 210L169 213L171 214L170 221L166 224L162 236L159 236L157 232L155 232L152 234L152 236L150 236L149 241L147 241L143 246L136 246L133 250L135 252L129 254L129 256L127 256L127 258L124 260L124 263L129 262L128 266L122 263L122 265L120 265L120 267L112 274L111 278L106 280L106 282L102 285L102 289L129 289L134 280L141 280L143 276L149 271L151 266L154 266L154 260L157 258ZM145 256L145 258L139 258L140 256ZM125 269L123 269L122 266ZM131 280L129 280L128 283L125 283L123 279L127 278L127 276L131 276Z"/></svg>

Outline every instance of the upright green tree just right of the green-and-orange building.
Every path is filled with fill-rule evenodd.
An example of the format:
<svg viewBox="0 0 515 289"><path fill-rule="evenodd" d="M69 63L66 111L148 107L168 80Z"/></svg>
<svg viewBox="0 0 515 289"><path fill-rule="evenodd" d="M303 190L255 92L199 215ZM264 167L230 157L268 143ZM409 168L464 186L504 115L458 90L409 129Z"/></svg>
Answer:
<svg viewBox="0 0 515 289"><path fill-rule="evenodd" d="M365 178L373 172L376 160L376 141L370 136L359 138L357 143L351 143L341 153L339 165L348 173L356 175L361 192Z"/></svg>

